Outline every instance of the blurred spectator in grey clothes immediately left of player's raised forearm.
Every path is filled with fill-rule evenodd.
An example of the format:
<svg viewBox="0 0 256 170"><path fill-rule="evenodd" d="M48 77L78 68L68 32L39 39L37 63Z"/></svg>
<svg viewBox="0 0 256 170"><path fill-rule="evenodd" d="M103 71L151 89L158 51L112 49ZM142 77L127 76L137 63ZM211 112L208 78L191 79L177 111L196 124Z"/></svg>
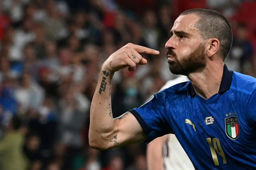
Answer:
<svg viewBox="0 0 256 170"><path fill-rule="evenodd" d="M74 84L63 91L62 96L59 101L62 142L70 147L81 148L81 131L87 117L85 113L89 109L89 101Z"/></svg>

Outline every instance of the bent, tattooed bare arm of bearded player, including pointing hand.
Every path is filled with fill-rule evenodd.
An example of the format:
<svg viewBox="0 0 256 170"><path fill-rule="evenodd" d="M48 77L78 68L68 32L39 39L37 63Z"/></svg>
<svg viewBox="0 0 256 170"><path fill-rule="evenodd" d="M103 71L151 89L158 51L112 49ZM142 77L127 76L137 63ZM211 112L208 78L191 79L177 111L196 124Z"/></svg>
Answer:
<svg viewBox="0 0 256 170"><path fill-rule="evenodd" d="M107 149L136 143L146 139L137 119L130 112L113 119L111 81L115 71L128 67L135 70L136 64L147 60L139 53L159 54L159 51L128 43L103 63L90 108L89 144L96 149Z"/></svg>

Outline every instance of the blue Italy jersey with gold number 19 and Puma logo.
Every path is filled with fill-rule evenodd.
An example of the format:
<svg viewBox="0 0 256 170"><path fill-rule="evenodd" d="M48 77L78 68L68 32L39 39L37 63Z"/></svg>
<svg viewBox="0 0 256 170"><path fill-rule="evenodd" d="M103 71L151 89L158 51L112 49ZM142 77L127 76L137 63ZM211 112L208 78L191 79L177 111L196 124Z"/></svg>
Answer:
<svg viewBox="0 0 256 170"><path fill-rule="evenodd" d="M224 66L209 99L190 82L154 94L130 110L150 142L174 133L195 169L256 169L256 79Z"/></svg>

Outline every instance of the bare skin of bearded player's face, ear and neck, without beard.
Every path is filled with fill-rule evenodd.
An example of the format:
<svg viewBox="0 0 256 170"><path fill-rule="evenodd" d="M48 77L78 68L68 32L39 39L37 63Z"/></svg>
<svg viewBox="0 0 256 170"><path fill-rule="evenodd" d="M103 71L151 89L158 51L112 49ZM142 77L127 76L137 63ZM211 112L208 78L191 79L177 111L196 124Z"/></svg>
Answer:
<svg viewBox="0 0 256 170"><path fill-rule="evenodd" d="M177 55L177 60L182 60L194 51L201 43L205 44L206 67L190 73L187 76L195 89L195 92L205 99L218 93L223 76L224 61L219 55L219 40L216 38L204 40L200 31L194 27L199 20L195 14L179 16L175 22L171 33L173 36L166 42L166 49L173 49ZM185 32L180 34L179 32ZM169 61L176 59L167 56ZM210 85L210 86L209 86Z"/></svg>

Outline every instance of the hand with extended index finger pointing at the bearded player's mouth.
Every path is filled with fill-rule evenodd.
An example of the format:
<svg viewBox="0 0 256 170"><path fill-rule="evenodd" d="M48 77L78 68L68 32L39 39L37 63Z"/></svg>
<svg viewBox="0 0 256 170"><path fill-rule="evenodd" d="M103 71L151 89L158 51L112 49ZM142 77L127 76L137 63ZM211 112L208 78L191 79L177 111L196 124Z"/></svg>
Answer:
<svg viewBox="0 0 256 170"><path fill-rule="evenodd" d="M147 63L147 60L139 53L157 55L159 54L159 51L128 43L111 54L111 56L109 56L103 63L102 69L114 73L115 71L128 67L129 71L134 71L136 64L144 65Z"/></svg>

